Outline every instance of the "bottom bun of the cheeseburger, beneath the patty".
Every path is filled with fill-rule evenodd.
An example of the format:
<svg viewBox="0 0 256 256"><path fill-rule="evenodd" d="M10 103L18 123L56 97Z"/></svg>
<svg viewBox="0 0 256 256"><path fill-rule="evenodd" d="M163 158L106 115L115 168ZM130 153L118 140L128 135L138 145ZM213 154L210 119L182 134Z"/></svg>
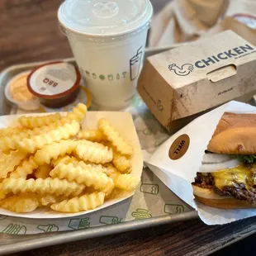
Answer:
<svg viewBox="0 0 256 256"><path fill-rule="evenodd" d="M219 196L211 189L197 187L192 185L193 193L197 201L200 201L206 206L211 206L221 209L251 209L256 208L256 203L249 204L248 201L240 201L234 197Z"/></svg>

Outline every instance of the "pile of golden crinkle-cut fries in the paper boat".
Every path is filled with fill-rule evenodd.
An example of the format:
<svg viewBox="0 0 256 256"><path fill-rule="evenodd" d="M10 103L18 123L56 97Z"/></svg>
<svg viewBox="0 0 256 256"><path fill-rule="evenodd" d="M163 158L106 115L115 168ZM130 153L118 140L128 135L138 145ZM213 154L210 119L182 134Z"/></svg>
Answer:
<svg viewBox="0 0 256 256"><path fill-rule="evenodd" d="M106 119L97 130L81 130L86 113L79 103L66 116L21 116L19 127L0 130L0 207L75 213L135 190L133 148Z"/></svg>

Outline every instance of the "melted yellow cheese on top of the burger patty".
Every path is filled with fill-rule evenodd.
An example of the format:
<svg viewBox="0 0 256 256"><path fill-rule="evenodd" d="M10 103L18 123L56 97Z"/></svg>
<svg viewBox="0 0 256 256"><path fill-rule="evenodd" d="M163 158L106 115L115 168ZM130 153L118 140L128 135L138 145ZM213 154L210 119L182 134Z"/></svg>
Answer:
<svg viewBox="0 0 256 256"><path fill-rule="evenodd" d="M220 190L225 186L234 186L235 183L244 183L249 189L256 184L254 178L255 165L252 168L247 168L244 165L239 165L235 168L221 170L217 173L211 173L214 178L215 186Z"/></svg>

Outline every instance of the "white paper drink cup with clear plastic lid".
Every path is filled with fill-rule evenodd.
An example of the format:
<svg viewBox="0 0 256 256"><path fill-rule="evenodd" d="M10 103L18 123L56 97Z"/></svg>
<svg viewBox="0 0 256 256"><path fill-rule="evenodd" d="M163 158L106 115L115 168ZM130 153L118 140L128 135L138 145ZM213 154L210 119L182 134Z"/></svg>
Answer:
<svg viewBox="0 0 256 256"><path fill-rule="evenodd" d="M66 0L59 7L60 26L98 107L130 104L152 14L149 0Z"/></svg>

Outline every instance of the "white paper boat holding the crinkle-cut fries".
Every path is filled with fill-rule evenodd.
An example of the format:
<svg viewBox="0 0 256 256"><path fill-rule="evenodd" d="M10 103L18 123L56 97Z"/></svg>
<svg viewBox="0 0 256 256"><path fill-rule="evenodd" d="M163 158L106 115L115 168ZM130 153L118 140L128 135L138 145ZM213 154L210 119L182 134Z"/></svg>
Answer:
<svg viewBox="0 0 256 256"><path fill-rule="evenodd" d="M64 113L63 113L64 114ZM26 116L43 116L45 114L31 114ZM11 126L17 121L19 116L0 116L0 128ZM118 130L129 143L134 148L134 157L131 160L132 175L141 177L143 170L143 160L140 149L140 142L136 134L134 122L130 113L127 112L104 112L104 111L88 111L87 116L83 120L82 128L85 129L97 129L97 121L100 118L106 118L111 124ZM38 208L36 211L31 213L15 213L12 211L7 211L0 208L0 215L7 216L17 216L23 218L32 218L32 219L54 219L54 218L64 218L64 217L73 217L81 216L84 214L92 213L94 211L101 210L107 206L112 206L120 201L124 201L129 197L132 197L134 192L121 192L121 194L116 195L111 200L106 201L102 206L97 207L92 211L81 211L78 213L62 213L51 211L49 208Z"/></svg>

